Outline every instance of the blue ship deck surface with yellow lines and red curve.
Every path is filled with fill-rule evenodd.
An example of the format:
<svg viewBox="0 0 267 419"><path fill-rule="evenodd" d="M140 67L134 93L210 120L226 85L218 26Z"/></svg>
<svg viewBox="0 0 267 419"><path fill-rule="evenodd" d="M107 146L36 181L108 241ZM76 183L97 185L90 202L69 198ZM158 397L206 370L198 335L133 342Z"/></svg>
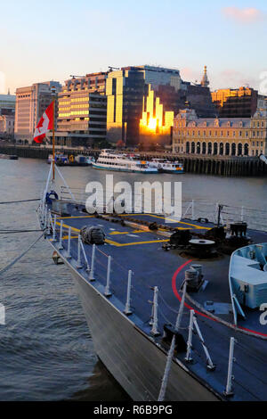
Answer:
<svg viewBox="0 0 267 419"><path fill-rule="evenodd" d="M201 304L205 301L213 300L219 303L230 303L230 294L228 289L228 269L230 258L221 255L217 259L208 259L190 262L190 258L181 255L181 251L163 251L162 244L168 240L155 232L143 231L139 228L122 226L120 223L111 223L107 219L94 218L86 215L79 209L69 205L71 217L58 218L57 226L59 228L61 219L63 221L63 247L62 256L66 253L68 246L68 229L71 227L71 253L73 255L72 263L77 259L77 234L83 226L100 226L106 234L106 242L97 246L95 261L95 279L94 286L103 287L106 285L108 256L111 256L111 291L109 297L117 308L121 309L122 303L125 304L127 275L128 270L134 272L131 294L131 307L134 314L131 320L142 328L142 331L150 335L150 315L151 301L153 300L153 290L158 286L158 329L163 333L163 325L175 323L177 311L180 306L179 296L181 296L180 287L184 279L184 270L190 266L190 263L200 263L203 266L204 279L208 282L205 291L200 291L192 295L195 300ZM130 217L130 215L128 215ZM131 217L135 219L145 219L149 222L157 220L158 224L164 224L161 216L154 214L134 214ZM158 218L159 217L159 218ZM121 217L123 218L123 217ZM168 220L166 220L168 221ZM170 226L181 228L190 228L192 232L205 232L211 228L211 223L202 225L201 223L182 220L179 223L170 223ZM255 242L267 242L267 234L251 232ZM257 241L256 238L259 237ZM54 243L57 248L58 242ZM65 253L64 253L65 252ZM85 244L85 253L89 264L91 263L92 245ZM85 278L88 273L85 269L79 270ZM119 301L119 303L118 303ZM195 308L195 307L192 307ZM197 309L197 308L195 308ZM187 340L189 325L190 304L185 308L182 319L182 334ZM247 322L240 322L240 325L261 331L267 334L267 327L261 326L257 322L258 313L249 316ZM223 316L222 316L223 317ZM231 316L224 316L223 319L230 320ZM251 324L249 320L251 319ZM245 334L237 333L224 325L214 322L202 314L198 315L198 325L203 333L206 345L217 365L214 372L206 370L206 357L201 347L198 337L194 335L194 351L192 356L194 363L188 366L192 372L208 382L220 393L223 393L226 377L229 355L229 340L235 336L239 344L236 345L235 357L237 363L234 366L235 396L233 399L257 400L267 399L267 367L265 363L265 353L267 341L256 340ZM162 335L156 341L161 341ZM183 360L185 354L181 354Z"/></svg>

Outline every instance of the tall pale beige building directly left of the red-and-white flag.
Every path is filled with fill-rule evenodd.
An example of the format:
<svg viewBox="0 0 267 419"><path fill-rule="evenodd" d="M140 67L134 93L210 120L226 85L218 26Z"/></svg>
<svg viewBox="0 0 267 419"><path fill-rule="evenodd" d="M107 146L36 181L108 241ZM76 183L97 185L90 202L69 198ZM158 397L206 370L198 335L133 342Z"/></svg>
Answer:
<svg viewBox="0 0 267 419"><path fill-rule="evenodd" d="M32 143L38 120L53 101L52 87L61 90L57 81L35 83L16 90L15 139L17 142Z"/></svg>

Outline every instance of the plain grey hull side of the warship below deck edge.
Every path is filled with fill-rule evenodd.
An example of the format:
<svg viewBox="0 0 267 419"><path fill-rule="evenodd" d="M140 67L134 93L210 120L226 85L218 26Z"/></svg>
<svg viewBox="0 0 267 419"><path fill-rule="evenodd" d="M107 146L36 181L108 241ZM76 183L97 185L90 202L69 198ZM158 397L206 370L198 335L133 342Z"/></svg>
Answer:
<svg viewBox="0 0 267 419"><path fill-rule="evenodd" d="M85 281L66 259L64 262L75 279L94 349L102 363L135 401L158 400L166 353ZM220 399L178 362L172 364L166 401Z"/></svg>

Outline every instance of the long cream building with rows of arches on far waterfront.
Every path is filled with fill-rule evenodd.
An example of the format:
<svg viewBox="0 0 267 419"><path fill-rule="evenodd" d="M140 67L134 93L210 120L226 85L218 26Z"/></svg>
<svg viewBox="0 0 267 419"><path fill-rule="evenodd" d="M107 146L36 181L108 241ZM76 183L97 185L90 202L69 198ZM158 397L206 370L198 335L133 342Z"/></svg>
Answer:
<svg viewBox="0 0 267 419"><path fill-rule="evenodd" d="M252 118L198 118L182 110L174 118L173 152L258 156L267 153L267 112Z"/></svg>

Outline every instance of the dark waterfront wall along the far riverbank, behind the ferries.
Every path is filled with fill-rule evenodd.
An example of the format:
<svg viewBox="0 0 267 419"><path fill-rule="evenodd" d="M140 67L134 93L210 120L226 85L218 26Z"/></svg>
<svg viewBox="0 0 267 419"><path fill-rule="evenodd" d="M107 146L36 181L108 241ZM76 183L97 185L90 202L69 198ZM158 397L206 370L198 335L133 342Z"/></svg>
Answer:
<svg viewBox="0 0 267 419"><path fill-rule="evenodd" d="M100 150L80 149L57 149L57 152L64 154L87 154L97 157ZM16 154L19 157L47 160L51 149L25 145L0 145L0 153ZM169 152L139 152L142 159L163 158L168 160L179 160L184 165L184 170L190 173L219 176L238 176L238 177L263 177L267 176L267 165L258 158L250 157L218 157L201 156L189 154L173 154Z"/></svg>

